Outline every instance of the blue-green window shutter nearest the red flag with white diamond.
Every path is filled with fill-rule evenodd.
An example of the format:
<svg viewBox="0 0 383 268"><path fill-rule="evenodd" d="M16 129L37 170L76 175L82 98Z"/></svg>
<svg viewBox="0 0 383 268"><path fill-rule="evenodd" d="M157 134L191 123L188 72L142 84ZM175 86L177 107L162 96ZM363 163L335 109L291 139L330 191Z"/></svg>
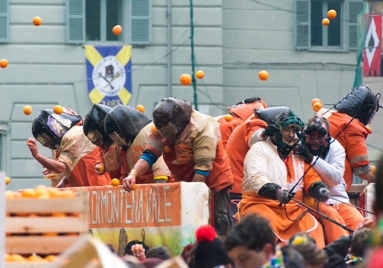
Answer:
<svg viewBox="0 0 383 268"><path fill-rule="evenodd" d="M349 0L348 3L348 42L347 49L356 50L358 46L357 17L363 10L362 0Z"/></svg>

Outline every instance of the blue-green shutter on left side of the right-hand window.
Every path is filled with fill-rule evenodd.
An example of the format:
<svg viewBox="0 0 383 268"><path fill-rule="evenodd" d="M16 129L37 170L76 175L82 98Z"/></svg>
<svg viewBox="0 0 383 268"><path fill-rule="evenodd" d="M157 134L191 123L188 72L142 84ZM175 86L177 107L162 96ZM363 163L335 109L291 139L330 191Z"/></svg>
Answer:
<svg viewBox="0 0 383 268"><path fill-rule="evenodd" d="M310 1L295 1L295 48L310 48Z"/></svg>

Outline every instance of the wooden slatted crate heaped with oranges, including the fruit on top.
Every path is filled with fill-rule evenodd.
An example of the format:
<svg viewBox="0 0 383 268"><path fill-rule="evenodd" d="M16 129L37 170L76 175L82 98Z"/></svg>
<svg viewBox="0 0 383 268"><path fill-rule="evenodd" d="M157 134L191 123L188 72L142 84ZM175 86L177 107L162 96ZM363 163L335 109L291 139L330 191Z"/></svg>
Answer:
<svg viewBox="0 0 383 268"><path fill-rule="evenodd" d="M31 256L33 253L38 256L59 254L87 233L86 195L76 198L71 190L38 186L7 191L6 199L9 261L13 261L13 255L17 259L17 254L26 260L37 259Z"/></svg>

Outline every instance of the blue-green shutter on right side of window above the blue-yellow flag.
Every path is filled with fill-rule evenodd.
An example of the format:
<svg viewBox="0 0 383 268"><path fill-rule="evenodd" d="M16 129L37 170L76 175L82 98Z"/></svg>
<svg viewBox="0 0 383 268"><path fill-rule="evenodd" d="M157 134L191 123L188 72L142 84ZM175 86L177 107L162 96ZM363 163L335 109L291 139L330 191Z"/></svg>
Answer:
<svg viewBox="0 0 383 268"><path fill-rule="evenodd" d="M130 43L150 44L152 41L152 0L129 1Z"/></svg>

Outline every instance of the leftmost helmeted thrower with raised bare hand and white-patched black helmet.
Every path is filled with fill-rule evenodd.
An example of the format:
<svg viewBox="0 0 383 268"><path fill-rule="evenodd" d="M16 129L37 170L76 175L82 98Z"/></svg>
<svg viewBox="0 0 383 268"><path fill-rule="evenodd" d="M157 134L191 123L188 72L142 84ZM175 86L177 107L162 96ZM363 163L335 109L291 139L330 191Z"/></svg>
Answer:
<svg viewBox="0 0 383 268"><path fill-rule="evenodd" d="M84 135L81 116L71 109L64 107L61 114L43 109L32 123L32 134L43 146L52 149L54 159L39 154L35 139L27 141L32 156L45 167L43 174L52 176L52 186L110 183L109 175L95 173L94 164L100 151Z"/></svg>

